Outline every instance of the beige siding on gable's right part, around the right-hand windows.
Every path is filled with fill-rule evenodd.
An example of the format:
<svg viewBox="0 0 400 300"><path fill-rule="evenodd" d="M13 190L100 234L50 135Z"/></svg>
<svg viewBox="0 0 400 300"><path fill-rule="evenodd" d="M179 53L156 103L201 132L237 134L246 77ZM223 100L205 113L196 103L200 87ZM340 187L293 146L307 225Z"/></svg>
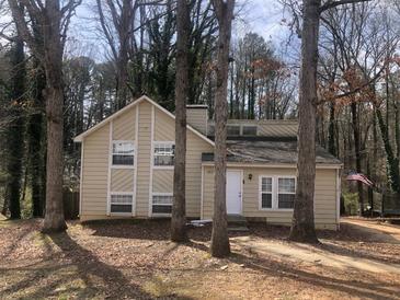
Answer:
<svg viewBox="0 0 400 300"><path fill-rule="evenodd" d="M155 141L174 141L174 119L156 108ZM201 216L202 153L213 151L213 146L187 130L186 147L186 215ZM153 192L172 193L173 171L153 170Z"/></svg>

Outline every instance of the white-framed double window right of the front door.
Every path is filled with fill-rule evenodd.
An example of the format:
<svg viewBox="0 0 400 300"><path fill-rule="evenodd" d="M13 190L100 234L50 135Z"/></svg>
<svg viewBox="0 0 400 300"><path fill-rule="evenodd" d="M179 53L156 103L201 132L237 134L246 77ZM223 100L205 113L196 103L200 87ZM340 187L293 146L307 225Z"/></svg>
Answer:
<svg viewBox="0 0 400 300"><path fill-rule="evenodd" d="M293 209L295 177L260 176L260 209Z"/></svg>

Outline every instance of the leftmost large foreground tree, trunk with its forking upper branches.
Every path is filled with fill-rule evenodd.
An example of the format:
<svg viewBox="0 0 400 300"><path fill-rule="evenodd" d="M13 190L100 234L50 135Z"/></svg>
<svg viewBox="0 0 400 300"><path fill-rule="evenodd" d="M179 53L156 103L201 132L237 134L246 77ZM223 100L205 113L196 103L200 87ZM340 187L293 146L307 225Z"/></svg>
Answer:
<svg viewBox="0 0 400 300"><path fill-rule="evenodd" d="M64 231L67 224L62 209L62 50L69 19L80 0L69 0L60 8L60 1L46 0L41 5L26 0L30 18L37 23L43 41L32 35L32 23L19 10L19 1L9 0L12 16L21 37L34 56L39 59L46 73L46 118L47 118L47 165L46 165L46 214L44 232Z"/></svg>

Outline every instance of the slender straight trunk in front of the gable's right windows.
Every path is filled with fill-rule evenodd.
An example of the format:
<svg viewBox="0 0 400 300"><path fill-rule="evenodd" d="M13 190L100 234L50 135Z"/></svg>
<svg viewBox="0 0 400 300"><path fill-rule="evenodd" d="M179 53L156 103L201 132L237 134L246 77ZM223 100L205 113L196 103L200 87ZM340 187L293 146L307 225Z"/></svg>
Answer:
<svg viewBox="0 0 400 300"><path fill-rule="evenodd" d="M186 99L188 78L190 8L186 0L178 0L178 41L175 80L175 168L173 172L173 206L171 240L184 242L186 234Z"/></svg>

